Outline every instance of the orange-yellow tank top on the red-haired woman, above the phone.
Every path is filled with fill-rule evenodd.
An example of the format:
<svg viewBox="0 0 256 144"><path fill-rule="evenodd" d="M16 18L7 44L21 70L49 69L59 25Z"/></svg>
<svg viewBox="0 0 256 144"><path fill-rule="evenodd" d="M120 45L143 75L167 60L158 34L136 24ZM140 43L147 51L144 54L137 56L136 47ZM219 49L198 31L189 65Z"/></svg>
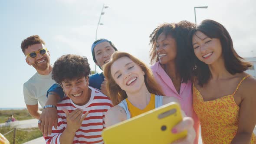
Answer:
<svg viewBox="0 0 256 144"><path fill-rule="evenodd" d="M131 102L128 101L127 98L125 100L127 102L127 106L128 106L128 110L130 111L131 118L133 118L137 115L141 115L144 112L150 111L155 108L155 95L154 94L151 94L150 101L149 101L148 105L143 110L132 105Z"/></svg>

